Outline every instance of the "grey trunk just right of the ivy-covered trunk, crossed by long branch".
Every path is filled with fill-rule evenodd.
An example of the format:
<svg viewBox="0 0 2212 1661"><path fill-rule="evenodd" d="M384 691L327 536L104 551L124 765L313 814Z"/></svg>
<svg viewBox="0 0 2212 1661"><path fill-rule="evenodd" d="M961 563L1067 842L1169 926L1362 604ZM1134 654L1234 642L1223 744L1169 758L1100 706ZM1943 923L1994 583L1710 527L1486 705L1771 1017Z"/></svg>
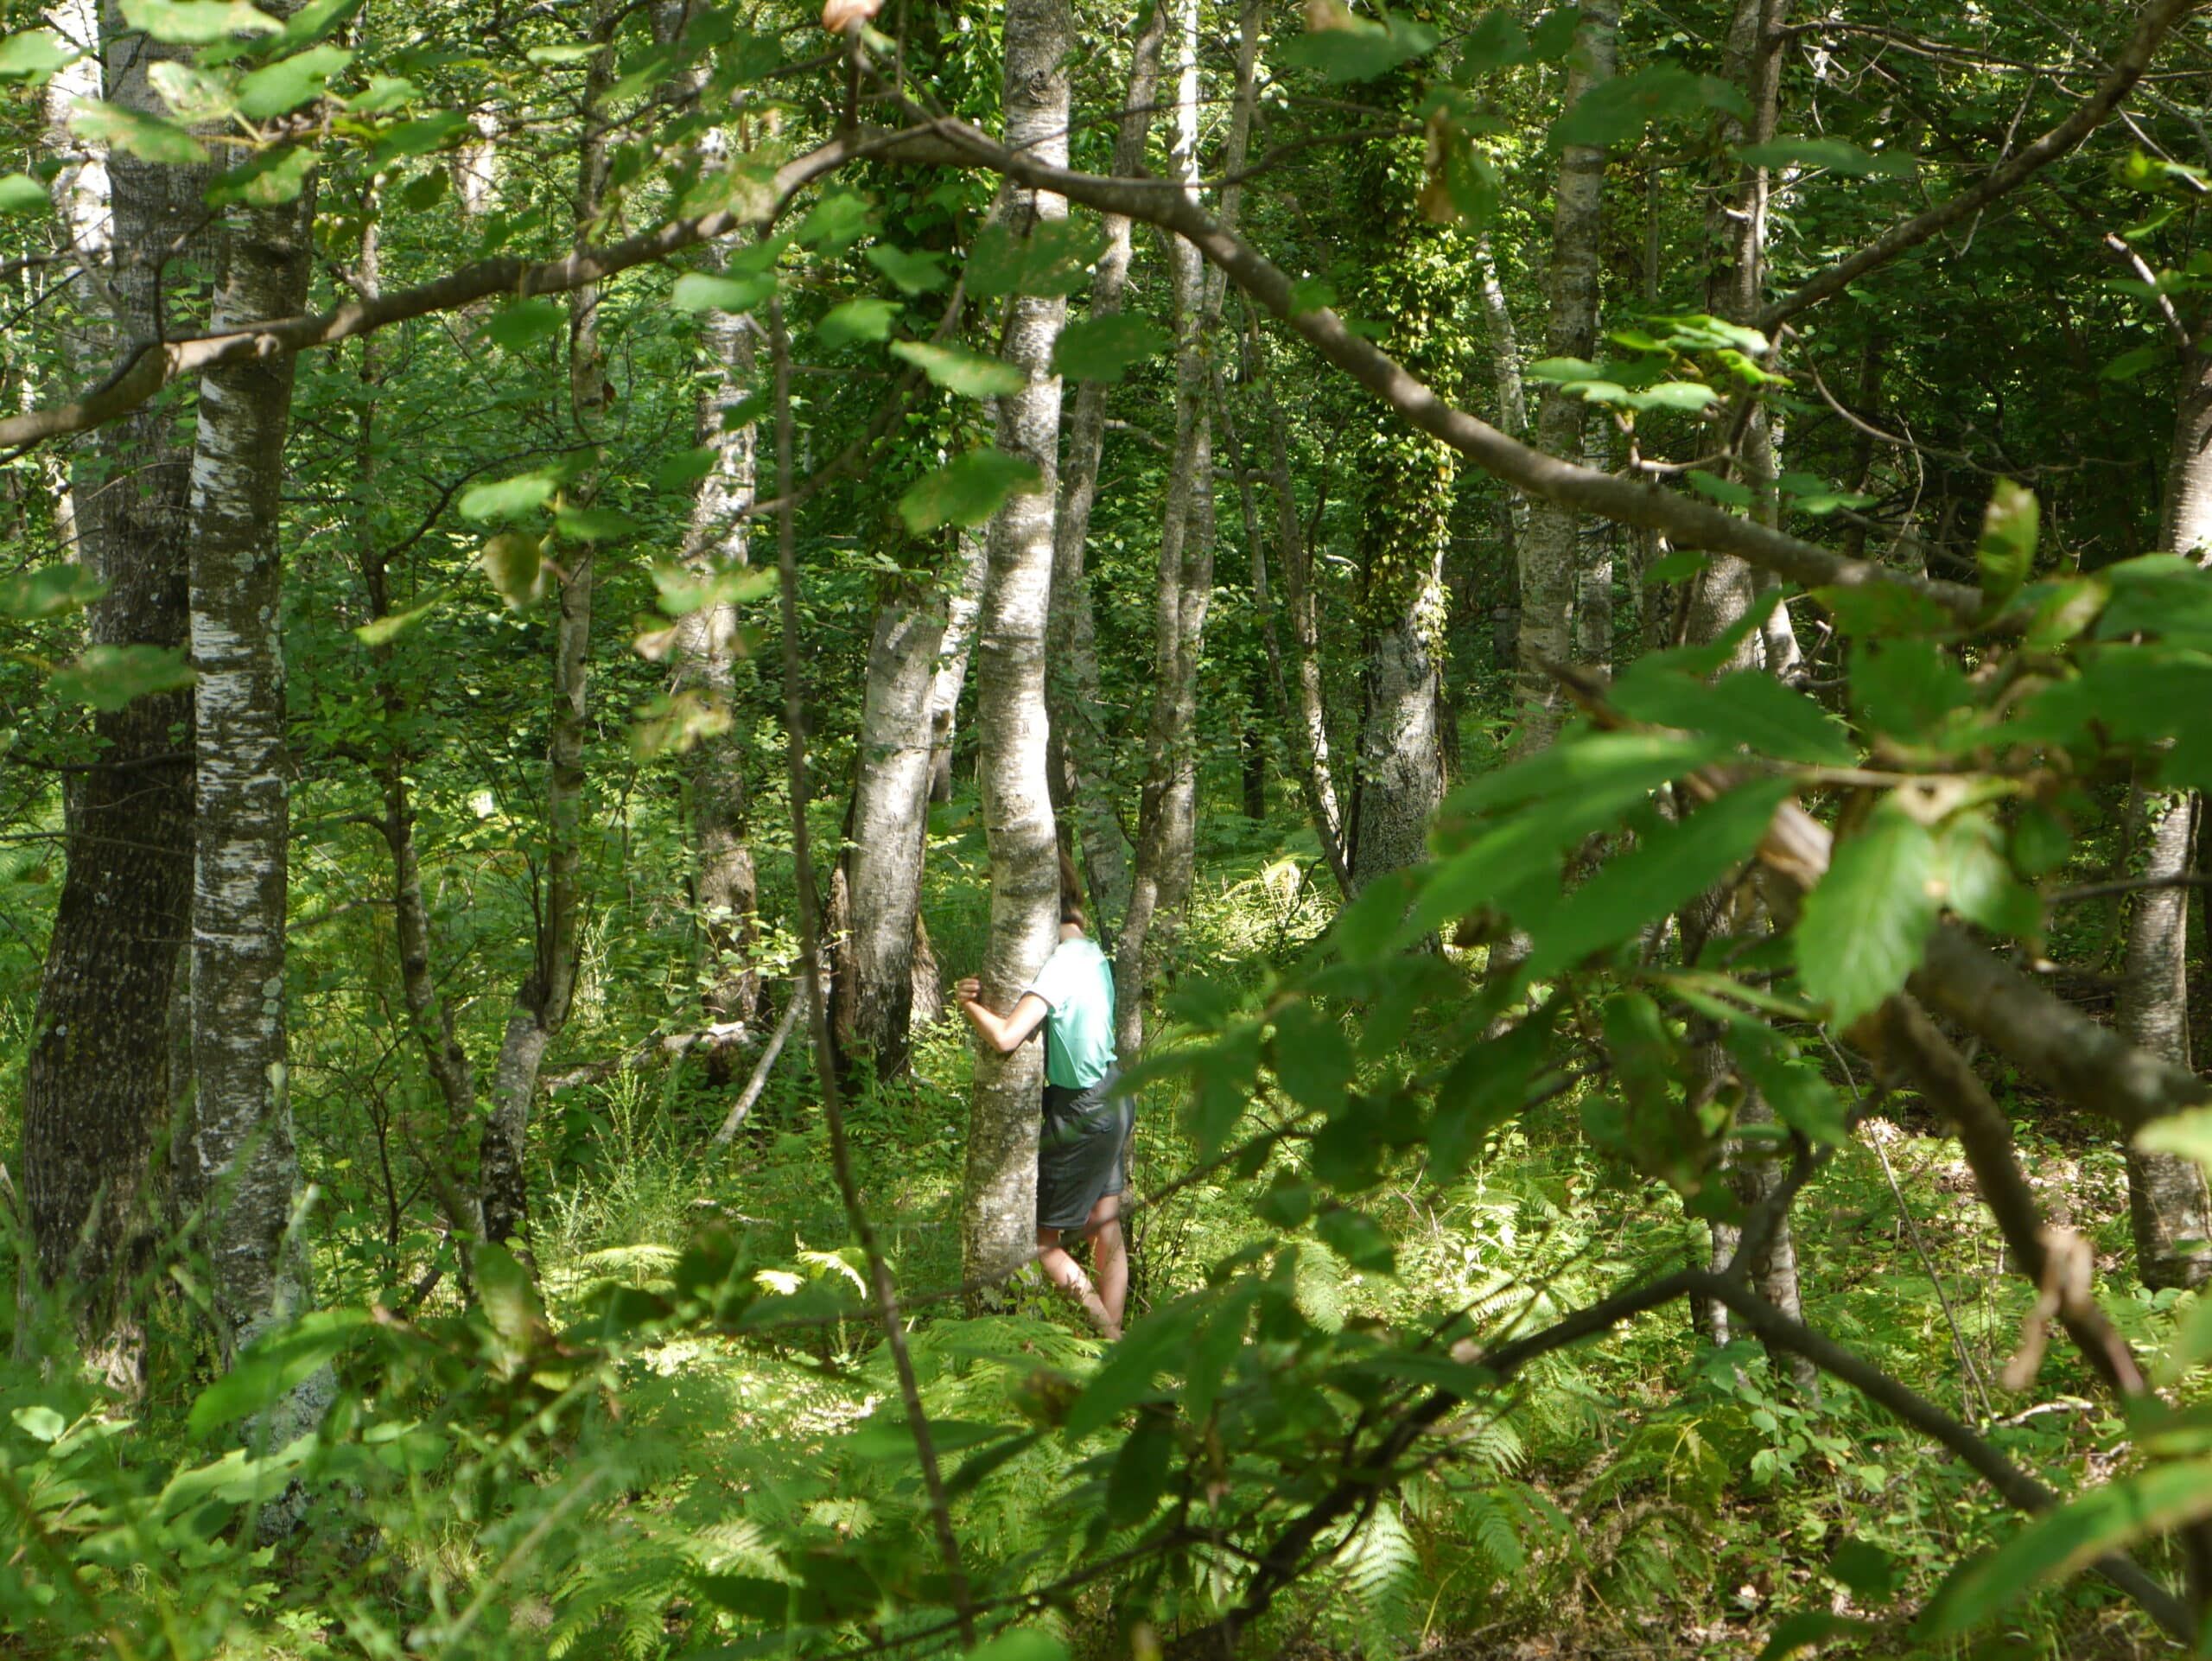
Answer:
<svg viewBox="0 0 2212 1661"><path fill-rule="evenodd" d="M1613 80L1619 0L1582 7L1575 58L1566 75L1566 108ZM1568 144L1559 153L1559 184L1551 217L1551 318L1544 354L1588 358L1597 345L1599 237L1604 232L1606 150ZM1582 460L1588 407L1564 387L1537 394L1535 447L1562 460ZM1528 506L1515 549L1520 568L1522 745L1537 750L1559 730L1564 706L1546 664L1575 659L1575 588L1579 582L1579 520L1551 502Z"/></svg>

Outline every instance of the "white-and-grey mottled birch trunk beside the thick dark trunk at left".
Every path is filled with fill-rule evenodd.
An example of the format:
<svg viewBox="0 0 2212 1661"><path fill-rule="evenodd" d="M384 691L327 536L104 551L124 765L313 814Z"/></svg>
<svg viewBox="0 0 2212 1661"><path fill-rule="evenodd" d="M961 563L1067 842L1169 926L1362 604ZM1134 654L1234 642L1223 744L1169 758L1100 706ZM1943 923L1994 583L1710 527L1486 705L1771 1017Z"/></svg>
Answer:
<svg viewBox="0 0 2212 1661"><path fill-rule="evenodd" d="M312 270L312 195L232 223L215 327L296 316ZM283 560L279 513L294 358L210 369L192 460L192 666L199 845L192 860L192 1163L204 1194L223 1360L312 1296L294 1219L285 1053ZM316 1389L319 1385L319 1389ZM327 1398L316 1373L279 1418ZM283 1429L272 1433L285 1440Z"/></svg>

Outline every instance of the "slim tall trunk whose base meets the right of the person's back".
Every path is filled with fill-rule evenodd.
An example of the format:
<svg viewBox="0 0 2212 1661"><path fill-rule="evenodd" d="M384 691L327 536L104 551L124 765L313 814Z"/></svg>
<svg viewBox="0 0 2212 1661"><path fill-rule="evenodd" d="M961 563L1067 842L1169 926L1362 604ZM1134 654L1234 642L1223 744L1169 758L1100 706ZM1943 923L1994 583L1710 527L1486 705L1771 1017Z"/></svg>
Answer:
<svg viewBox="0 0 2212 1661"><path fill-rule="evenodd" d="M1199 7L1179 0L1175 13L1175 144L1168 177L1199 195ZM1234 137L1234 133L1232 133ZM1241 148L1241 146L1237 146ZM1225 159L1237 173L1241 157ZM1223 215L1230 206L1223 203ZM1144 1002L1175 942L1190 900L1197 854L1197 717L1199 652L1214 588L1214 433L1206 352L1219 318L1219 296L1206 281L1197 246L1168 237L1175 294L1175 456L1159 526L1159 595L1152 635L1152 712L1144 734L1144 790L1137 801L1137 863L1128 913L1115 940L1115 1048L1135 1059L1144 1048Z"/></svg>

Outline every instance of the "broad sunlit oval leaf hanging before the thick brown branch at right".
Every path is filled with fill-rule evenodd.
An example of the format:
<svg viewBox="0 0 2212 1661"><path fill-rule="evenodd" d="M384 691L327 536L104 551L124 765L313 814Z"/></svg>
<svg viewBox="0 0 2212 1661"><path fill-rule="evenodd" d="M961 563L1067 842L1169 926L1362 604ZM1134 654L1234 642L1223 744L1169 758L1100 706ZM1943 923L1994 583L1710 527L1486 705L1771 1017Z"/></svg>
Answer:
<svg viewBox="0 0 2212 1661"><path fill-rule="evenodd" d="M1876 809L1836 843L1792 936L1805 995L1851 1026L1920 967L1940 900L1936 838L1900 809Z"/></svg>

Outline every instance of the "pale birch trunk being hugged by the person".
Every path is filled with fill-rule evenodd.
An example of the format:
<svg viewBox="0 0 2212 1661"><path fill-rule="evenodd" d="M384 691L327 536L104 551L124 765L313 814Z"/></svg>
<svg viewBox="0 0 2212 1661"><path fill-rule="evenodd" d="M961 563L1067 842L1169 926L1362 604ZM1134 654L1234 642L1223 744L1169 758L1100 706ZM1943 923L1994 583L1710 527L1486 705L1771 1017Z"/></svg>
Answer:
<svg viewBox="0 0 2212 1661"><path fill-rule="evenodd" d="M1066 0L1009 0L1006 130L1015 150L1066 166L1068 159L1068 7ZM1000 197L1006 223L1026 232L1064 219L1068 203L1011 186ZM1057 840L1046 779L1044 639L1053 593L1053 487L1060 469L1060 380L1053 343L1064 299L1015 296L1002 356L1029 383L998 400L998 447L1029 460L1044 489L1013 495L991 515L989 568L975 633L975 737L982 823L991 854L991 933L982 995L1011 1011L1044 967L1057 936ZM975 1057L969 1104L967 1181L960 1245L967 1278L998 1285L1035 1254L1037 1121L1044 1057L1037 1044L1013 1055L989 1046Z"/></svg>

